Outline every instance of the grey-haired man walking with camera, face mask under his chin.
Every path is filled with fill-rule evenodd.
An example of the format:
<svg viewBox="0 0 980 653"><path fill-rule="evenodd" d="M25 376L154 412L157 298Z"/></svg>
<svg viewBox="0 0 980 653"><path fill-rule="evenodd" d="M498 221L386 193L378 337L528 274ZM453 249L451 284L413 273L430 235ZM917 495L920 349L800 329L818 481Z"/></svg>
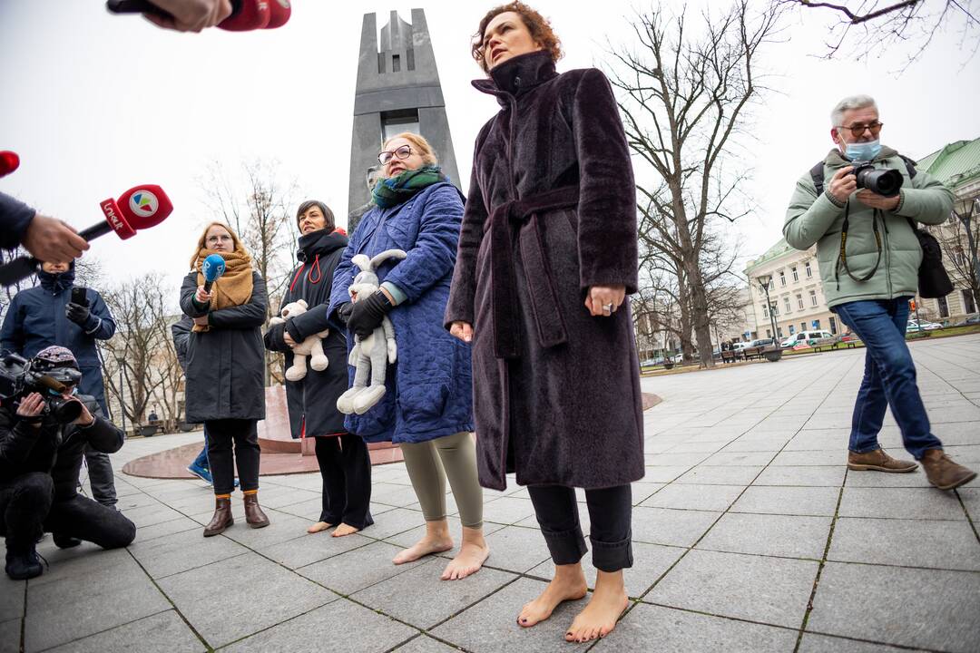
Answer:
<svg viewBox="0 0 980 653"><path fill-rule="evenodd" d="M956 464L932 434L906 345L908 301L918 289L922 249L914 222L940 224L953 193L878 140L882 123L874 100L845 98L831 113L836 147L797 181L783 235L798 250L816 244L823 293L830 309L864 343L864 378L851 426L848 468L912 472L878 443L886 408L906 449L929 483L953 490L976 477Z"/></svg>

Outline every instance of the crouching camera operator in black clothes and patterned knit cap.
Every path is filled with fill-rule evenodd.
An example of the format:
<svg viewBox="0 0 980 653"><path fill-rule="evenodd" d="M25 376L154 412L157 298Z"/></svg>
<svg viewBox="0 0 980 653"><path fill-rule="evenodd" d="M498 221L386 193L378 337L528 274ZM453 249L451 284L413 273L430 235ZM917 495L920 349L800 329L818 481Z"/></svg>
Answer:
<svg viewBox="0 0 980 653"><path fill-rule="evenodd" d="M78 396L81 372L71 350L49 347L0 366L0 532L7 575L39 576L34 548L45 531L60 547L80 540L126 546L136 527L122 513L77 493L85 446L113 453L123 432L102 417L91 396Z"/></svg>

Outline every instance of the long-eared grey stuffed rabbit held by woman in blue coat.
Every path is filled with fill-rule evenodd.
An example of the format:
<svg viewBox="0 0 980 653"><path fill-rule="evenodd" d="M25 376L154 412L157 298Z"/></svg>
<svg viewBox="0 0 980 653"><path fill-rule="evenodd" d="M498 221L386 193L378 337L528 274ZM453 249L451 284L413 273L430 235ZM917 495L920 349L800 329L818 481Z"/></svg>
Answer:
<svg viewBox="0 0 980 653"><path fill-rule="evenodd" d="M351 262L361 268L354 277L354 283L347 289L351 299L355 296L368 297L380 285L377 279L377 266L388 258L408 257L402 250L385 250L373 258L363 254L351 258ZM347 362L353 365L354 385L337 399L337 410L350 415L363 415L384 396L384 376L388 363L395 362L398 350L395 346L395 329L386 315L381 326L364 340L355 336L354 349ZM370 384L368 385L368 378Z"/></svg>

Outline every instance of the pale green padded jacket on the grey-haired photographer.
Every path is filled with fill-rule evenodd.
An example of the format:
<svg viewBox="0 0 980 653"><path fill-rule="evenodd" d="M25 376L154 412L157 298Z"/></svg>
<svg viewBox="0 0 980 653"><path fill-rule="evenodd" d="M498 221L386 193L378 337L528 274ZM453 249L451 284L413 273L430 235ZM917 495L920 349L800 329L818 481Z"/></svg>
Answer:
<svg viewBox="0 0 980 653"><path fill-rule="evenodd" d="M875 167L899 170L905 182L899 206L894 211L871 209L854 196L848 201L847 260L855 277L861 279L866 276L878 258L873 220L878 223L882 246L877 271L867 281L856 281L848 275L839 260L844 209L835 205L828 195L834 173L850 164L837 149L827 154L823 160L824 192L820 197L816 196L809 172L800 177L786 210L783 236L790 247L798 250L806 250L816 243L816 259L828 306L914 296L918 290L922 250L906 218L925 224L940 224L953 210L953 193L921 170L916 170L915 176L909 179L905 161L895 150L883 147L874 161Z"/></svg>

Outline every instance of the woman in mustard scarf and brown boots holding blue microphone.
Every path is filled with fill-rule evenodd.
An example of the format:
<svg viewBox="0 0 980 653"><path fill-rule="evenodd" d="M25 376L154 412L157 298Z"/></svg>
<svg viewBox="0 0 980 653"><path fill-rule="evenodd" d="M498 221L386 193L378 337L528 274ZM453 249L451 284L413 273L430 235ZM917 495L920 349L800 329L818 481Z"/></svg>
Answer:
<svg viewBox="0 0 980 653"><path fill-rule="evenodd" d="M204 289L201 264L217 254L225 271ZM252 269L252 258L226 225L212 222L201 234L191 272L180 287L180 308L194 320L187 343L184 389L188 422L204 422L208 460L215 481L215 516L204 536L217 536L234 523L231 491L235 462L245 497L245 521L254 529L269 526L259 507L259 434L266 417L266 282ZM234 442L234 456L231 443Z"/></svg>

